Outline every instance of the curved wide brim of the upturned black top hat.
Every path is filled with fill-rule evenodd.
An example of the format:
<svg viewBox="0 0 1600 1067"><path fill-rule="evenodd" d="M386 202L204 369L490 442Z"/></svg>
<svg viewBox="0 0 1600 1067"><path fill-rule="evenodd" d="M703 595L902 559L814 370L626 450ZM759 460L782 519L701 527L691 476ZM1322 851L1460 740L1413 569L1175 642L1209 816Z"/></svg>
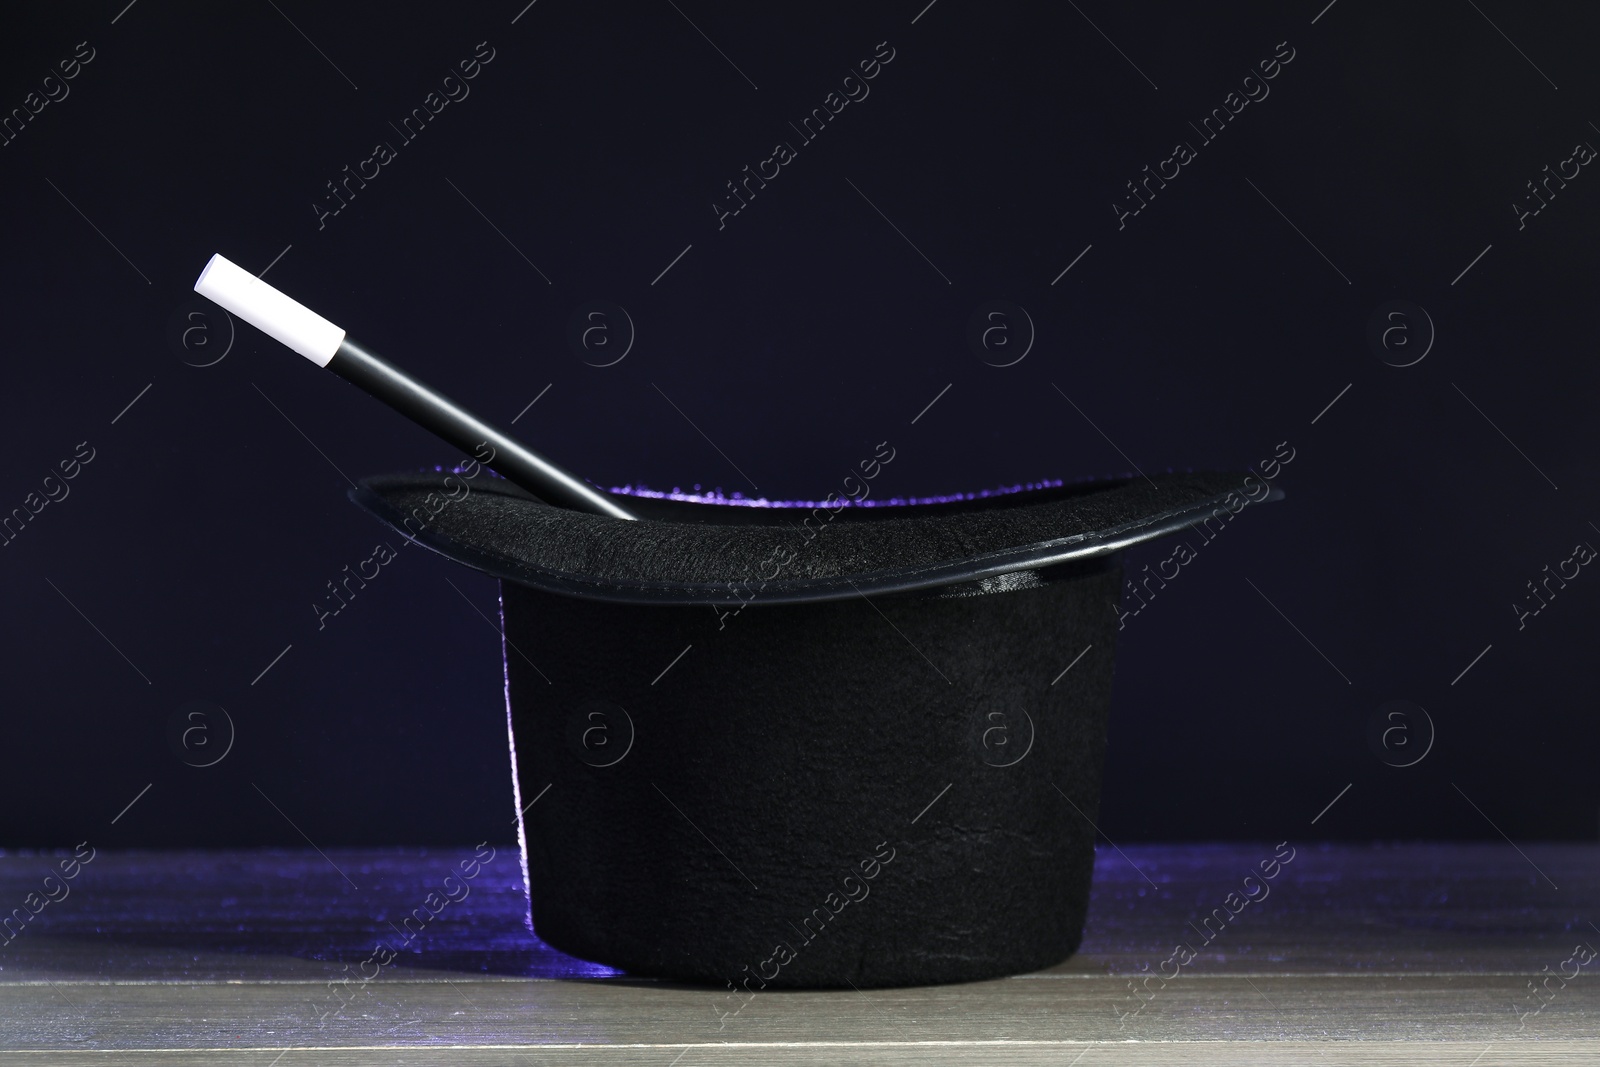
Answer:
<svg viewBox="0 0 1600 1067"><path fill-rule="evenodd" d="M1256 485L1266 485L1254 478ZM950 502L795 507L619 496L640 522L552 507L504 478L378 475L350 499L494 577L614 603L814 603L979 582L1110 555L1250 502L1246 475L1181 472Z"/></svg>

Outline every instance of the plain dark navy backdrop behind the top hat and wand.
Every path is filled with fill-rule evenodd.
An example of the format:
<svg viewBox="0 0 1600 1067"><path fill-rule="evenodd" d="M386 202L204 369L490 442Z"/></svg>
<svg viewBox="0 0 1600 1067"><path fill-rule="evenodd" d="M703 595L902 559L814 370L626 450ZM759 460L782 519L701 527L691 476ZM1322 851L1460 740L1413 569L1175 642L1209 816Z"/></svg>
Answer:
<svg viewBox="0 0 1600 1067"><path fill-rule="evenodd" d="M0 549L0 845L510 838L494 584L406 550L310 608L390 536L346 475L456 456L242 323L174 342L214 251L502 426L549 386L515 430L602 485L814 499L886 438L883 490L922 494L1288 442L1288 499L1120 635L1101 829L1275 840L1339 795L1330 838L1592 840L1600 577L1523 630L1512 603L1600 544L1600 176L1522 230L1510 205L1600 144L1600 11L923 5L8 6L0 107L94 59L0 149L0 509L94 459ZM885 40L718 230L723 184ZM478 42L470 96L398 144ZM1118 230L1176 141L1198 158ZM592 299L635 323L614 366L566 341ZM1037 328L1013 366L966 344L994 299ZM1437 330L1413 366L1366 341L1395 299ZM237 728L208 768L170 736L197 699ZM1368 744L1395 699L1437 731L1414 766Z"/></svg>

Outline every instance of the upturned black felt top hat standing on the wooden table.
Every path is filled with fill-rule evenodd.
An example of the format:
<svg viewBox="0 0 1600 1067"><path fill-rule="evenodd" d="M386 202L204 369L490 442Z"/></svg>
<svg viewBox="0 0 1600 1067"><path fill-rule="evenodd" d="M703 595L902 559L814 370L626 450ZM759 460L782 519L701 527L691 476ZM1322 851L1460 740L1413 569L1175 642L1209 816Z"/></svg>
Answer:
<svg viewBox="0 0 1600 1067"><path fill-rule="evenodd" d="M544 941L728 985L728 1013L1077 949L1118 553L1275 490L1189 472L899 501L867 470L818 502L635 491L642 522L474 464L352 491L501 579Z"/></svg>

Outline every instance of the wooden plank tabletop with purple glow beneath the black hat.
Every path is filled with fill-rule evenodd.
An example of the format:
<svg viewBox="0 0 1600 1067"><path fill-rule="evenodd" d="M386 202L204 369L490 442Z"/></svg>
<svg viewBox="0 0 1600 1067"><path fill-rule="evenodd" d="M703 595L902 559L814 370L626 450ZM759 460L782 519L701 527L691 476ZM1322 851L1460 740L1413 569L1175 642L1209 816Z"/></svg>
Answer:
<svg viewBox="0 0 1600 1067"><path fill-rule="evenodd" d="M725 1017L718 990L539 942L514 846L365 985L469 851L102 851L0 937L0 1064L1600 1064L1600 958L1574 955L1600 947L1600 848L1299 845L1203 944L1190 923L1270 853L1102 848L1056 968ZM58 862L0 854L0 915Z"/></svg>

